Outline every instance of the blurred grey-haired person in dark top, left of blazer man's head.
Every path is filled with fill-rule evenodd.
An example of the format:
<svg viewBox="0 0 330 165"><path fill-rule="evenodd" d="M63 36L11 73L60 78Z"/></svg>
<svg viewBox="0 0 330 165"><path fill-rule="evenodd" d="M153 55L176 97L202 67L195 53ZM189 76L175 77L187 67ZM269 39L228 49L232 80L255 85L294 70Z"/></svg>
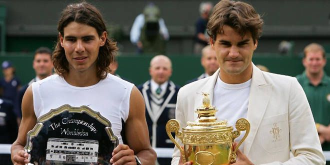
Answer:
<svg viewBox="0 0 330 165"><path fill-rule="evenodd" d="M213 4L211 2L201 2L199 4L200 17L197 19L195 27L195 43L193 46L193 53L199 54L201 49L207 45L209 37L206 33L206 24L208 16L211 13Z"/></svg>

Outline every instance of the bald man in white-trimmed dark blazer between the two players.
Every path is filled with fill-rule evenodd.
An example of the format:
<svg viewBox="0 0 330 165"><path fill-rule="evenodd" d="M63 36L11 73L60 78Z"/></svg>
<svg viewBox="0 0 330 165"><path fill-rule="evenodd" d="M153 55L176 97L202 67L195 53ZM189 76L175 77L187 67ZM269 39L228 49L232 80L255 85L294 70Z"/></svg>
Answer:
<svg viewBox="0 0 330 165"><path fill-rule="evenodd" d="M176 96L179 87L169 80L172 64L165 55L156 55L150 61L150 80L138 86L145 102L145 115L152 147L174 147L165 125L175 117ZM170 164L171 158L157 158L158 164Z"/></svg>

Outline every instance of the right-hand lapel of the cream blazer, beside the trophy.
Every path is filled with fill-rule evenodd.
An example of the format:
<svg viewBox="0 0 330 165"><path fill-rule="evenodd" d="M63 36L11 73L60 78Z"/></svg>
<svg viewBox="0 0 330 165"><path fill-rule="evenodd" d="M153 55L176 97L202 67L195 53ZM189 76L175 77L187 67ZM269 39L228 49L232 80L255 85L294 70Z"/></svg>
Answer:
<svg viewBox="0 0 330 165"><path fill-rule="evenodd" d="M244 141L244 154L246 155L248 155L251 149L252 142L269 102L272 88L272 85L265 81L262 71L253 63L252 65L252 80L247 107L247 120L250 122L250 131Z"/></svg>

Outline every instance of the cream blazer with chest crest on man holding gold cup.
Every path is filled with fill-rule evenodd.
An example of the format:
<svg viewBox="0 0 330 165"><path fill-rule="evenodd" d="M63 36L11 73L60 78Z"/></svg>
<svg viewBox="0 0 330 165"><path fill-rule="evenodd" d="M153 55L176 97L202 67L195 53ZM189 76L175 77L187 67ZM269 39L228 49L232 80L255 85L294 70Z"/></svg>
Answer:
<svg viewBox="0 0 330 165"><path fill-rule="evenodd" d="M250 132L244 141L243 153L254 164L325 164L306 95L296 78L264 72L252 65L246 118ZM180 88L175 110L180 127L197 118L193 110L200 106L202 92L209 93L214 102L218 75L219 69L210 77ZM280 138L271 134L274 127L281 129ZM182 145L178 138L176 141ZM290 150L294 157L290 158ZM172 157L171 164L178 164L178 148L174 147Z"/></svg>

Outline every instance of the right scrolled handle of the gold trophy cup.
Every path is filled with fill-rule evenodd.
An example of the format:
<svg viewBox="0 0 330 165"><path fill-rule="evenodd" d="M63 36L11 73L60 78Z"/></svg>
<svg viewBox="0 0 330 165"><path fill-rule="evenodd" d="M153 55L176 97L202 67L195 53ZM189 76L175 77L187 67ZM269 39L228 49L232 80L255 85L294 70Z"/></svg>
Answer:
<svg viewBox="0 0 330 165"><path fill-rule="evenodd" d="M236 151L237 151L238 147L240 146L240 144L247 137L248 132L250 131L250 123L245 118L239 118L236 121L235 127L236 127L237 130L234 130L233 133L232 133L233 134L232 141L240 135L240 131L245 130L245 134L244 134L243 138L238 142L238 144L237 144L236 148L234 149L234 151L231 153L230 162L235 162L236 161Z"/></svg>

